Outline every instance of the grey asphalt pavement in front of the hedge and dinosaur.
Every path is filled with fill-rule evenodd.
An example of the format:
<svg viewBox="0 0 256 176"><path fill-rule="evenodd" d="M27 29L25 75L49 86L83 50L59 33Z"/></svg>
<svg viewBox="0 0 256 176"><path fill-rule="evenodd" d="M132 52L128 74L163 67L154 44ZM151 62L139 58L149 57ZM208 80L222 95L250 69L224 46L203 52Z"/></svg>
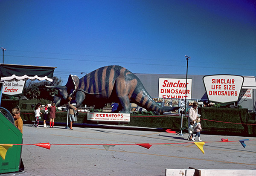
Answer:
<svg viewBox="0 0 256 176"><path fill-rule="evenodd" d="M205 142L203 154L193 141L186 140L188 134L180 136L120 125L113 128L100 125L70 130L62 126L35 128L24 124L23 144L65 145L51 145L50 150L23 145L25 170L20 176L164 176L166 168L256 169L254 137L201 134ZM234 142L218 142L221 138ZM243 139L249 139L244 141L245 148L238 141ZM103 144L111 145L108 151ZM137 144L152 146L147 149Z"/></svg>

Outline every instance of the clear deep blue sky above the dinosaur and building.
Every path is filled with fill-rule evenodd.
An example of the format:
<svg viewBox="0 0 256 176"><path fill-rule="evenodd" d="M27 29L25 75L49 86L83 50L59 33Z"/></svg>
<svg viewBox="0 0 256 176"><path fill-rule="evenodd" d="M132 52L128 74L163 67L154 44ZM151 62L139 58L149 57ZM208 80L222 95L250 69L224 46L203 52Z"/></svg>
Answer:
<svg viewBox="0 0 256 176"><path fill-rule="evenodd" d="M0 0L4 63L256 76L254 0ZM0 52L2 63L2 51Z"/></svg>

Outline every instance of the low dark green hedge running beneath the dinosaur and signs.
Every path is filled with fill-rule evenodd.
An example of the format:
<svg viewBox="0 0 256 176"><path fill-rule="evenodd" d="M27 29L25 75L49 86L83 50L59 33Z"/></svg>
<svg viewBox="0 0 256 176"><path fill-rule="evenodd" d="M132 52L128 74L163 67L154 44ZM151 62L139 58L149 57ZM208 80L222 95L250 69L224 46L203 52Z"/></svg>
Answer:
<svg viewBox="0 0 256 176"><path fill-rule="evenodd" d="M238 136L256 136L256 121L248 120L247 109L230 109L230 108L202 108L201 125L202 134L215 135L238 135ZM42 111L43 112L43 111ZM35 120L33 110L22 110L22 118L27 123ZM212 121L209 121L212 120ZM42 121L42 120L41 120ZM67 123L67 112L57 111L55 122ZM231 123L224 123L231 122ZM120 124L120 122L104 121L87 121L87 113L80 112L77 118L78 124ZM136 127L151 127L180 130L181 116L160 115L160 116L143 116L131 115L130 122L124 125ZM187 117L183 116L183 127L187 127ZM184 130L184 133L187 131Z"/></svg>

